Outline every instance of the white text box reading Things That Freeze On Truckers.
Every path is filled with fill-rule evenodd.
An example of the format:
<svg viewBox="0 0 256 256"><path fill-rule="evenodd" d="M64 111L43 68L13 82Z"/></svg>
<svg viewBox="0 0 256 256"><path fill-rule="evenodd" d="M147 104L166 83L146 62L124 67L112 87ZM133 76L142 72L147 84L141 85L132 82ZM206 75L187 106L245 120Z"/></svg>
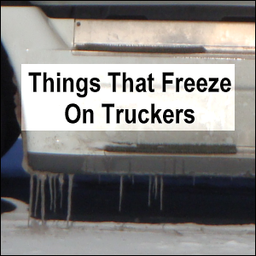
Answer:
<svg viewBox="0 0 256 256"><path fill-rule="evenodd" d="M23 131L235 131L234 64L22 64Z"/></svg>

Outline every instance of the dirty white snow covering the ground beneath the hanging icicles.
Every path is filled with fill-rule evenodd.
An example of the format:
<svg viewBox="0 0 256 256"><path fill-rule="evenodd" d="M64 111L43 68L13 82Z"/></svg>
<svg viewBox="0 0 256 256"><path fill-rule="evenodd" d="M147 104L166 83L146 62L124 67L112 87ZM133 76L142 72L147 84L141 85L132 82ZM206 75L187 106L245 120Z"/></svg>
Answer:
<svg viewBox="0 0 256 256"><path fill-rule="evenodd" d="M27 206L1 216L1 255L39 254L252 254L255 225L117 224L37 220L27 228ZM20 214L21 213L21 214ZM19 215L20 214L20 215ZM17 218L20 216L20 219Z"/></svg>

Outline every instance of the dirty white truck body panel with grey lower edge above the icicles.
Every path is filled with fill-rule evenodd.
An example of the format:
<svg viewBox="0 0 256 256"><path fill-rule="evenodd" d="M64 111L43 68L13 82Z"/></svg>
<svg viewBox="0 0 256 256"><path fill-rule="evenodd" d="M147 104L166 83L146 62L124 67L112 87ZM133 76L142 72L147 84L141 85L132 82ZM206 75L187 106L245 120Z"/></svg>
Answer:
<svg viewBox="0 0 256 256"><path fill-rule="evenodd" d="M15 69L20 94L20 65L24 63L236 65L236 131L26 131L24 138L27 171L231 176L255 174L255 55L252 45L245 54L240 49L238 51L227 49L227 52L218 49L214 52L212 45L209 48L210 51L179 52L178 54L175 51L161 54L140 53L140 49L138 52L129 53L90 51L84 47L78 47L80 38L77 37L74 28L76 22L74 19L49 19L39 9L33 7L4 7L1 13L2 40ZM221 23L218 23L218 26L219 24ZM236 25L242 26L237 23L234 25L235 29ZM214 26L214 22L211 26ZM250 26L254 30L254 24ZM242 34L241 37L243 37ZM211 42L209 38L208 40ZM32 119L32 116L23 118ZM142 152L113 153L105 148L109 145L125 144L126 146L134 143L212 147L228 145L234 146L236 150L232 153L210 151L200 154L193 154L193 152L144 154Z"/></svg>

